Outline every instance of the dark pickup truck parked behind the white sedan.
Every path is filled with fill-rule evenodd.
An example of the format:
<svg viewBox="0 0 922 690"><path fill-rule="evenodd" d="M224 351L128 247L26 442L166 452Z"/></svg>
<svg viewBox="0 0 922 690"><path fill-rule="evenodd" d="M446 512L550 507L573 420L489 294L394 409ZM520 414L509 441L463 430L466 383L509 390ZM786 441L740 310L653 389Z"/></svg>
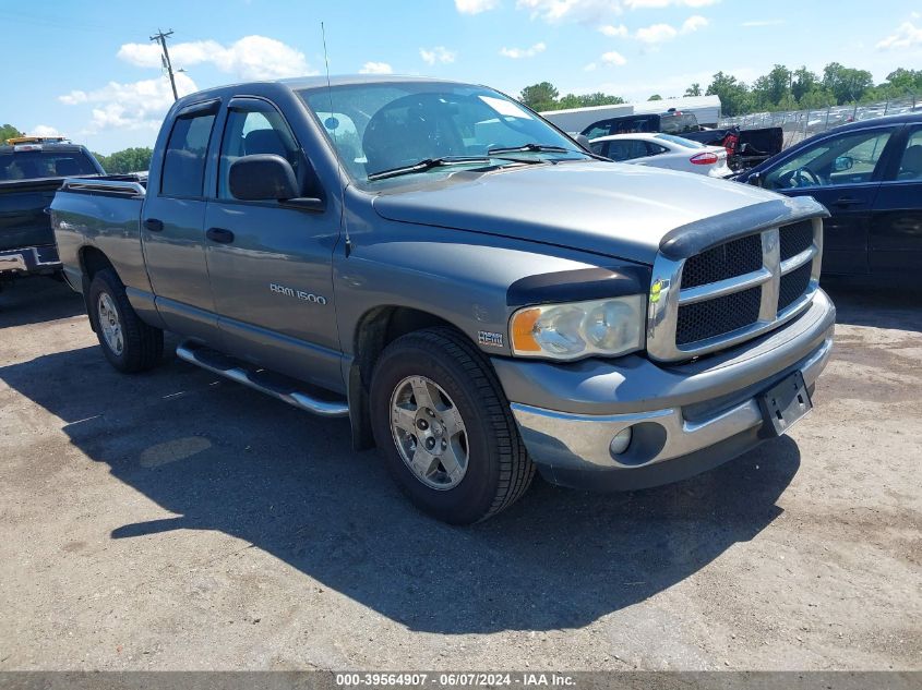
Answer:
<svg viewBox="0 0 922 690"><path fill-rule="evenodd" d="M706 129L690 112L670 111L659 114L630 114L607 118L585 128L582 134L589 140L615 134L673 134L708 146L722 146L733 170L755 166L779 153L785 135L779 126L740 130L739 128Z"/></svg>

